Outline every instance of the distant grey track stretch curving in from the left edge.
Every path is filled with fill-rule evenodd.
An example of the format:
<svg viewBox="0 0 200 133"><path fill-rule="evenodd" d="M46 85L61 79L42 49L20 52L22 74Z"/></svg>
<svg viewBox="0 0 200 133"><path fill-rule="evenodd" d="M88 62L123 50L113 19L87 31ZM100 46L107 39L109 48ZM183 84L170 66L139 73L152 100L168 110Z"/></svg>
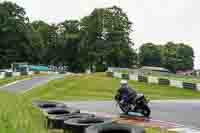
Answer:
<svg viewBox="0 0 200 133"><path fill-rule="evenodd" d="M0 90L5 90L11 93L25 93L28 90L31 90L33 87L43 85L47 83L50 80L62 78L64 75L47 75L47 76L39 76L39 77L33 77L32 79L22 80L20 82L6 85L3 87L0 87Z"/></svg>

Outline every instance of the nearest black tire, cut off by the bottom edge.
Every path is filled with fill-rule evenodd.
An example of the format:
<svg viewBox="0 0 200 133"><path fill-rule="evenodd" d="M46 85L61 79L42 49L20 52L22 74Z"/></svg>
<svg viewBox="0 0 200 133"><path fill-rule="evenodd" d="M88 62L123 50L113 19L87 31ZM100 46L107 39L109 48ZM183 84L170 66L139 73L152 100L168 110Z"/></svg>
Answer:
<svg viewBox="0 0 200 133"><path fill-rule="evenodd" d="M105 123L91 126L85 133L145 133L145 129L128 124Z"/></svg>

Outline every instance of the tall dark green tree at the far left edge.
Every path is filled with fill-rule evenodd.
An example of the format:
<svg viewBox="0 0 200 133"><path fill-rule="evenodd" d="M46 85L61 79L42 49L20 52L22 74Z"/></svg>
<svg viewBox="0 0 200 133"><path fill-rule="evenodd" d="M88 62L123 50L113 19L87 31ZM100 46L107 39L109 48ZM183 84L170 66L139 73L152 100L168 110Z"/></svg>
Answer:
<svg viewBox="0 0 200 133"><path fill-rule="evenodd" d="M28 18L24 8L12 2L0 3L0 67L12 62L31 61L28 40Z"/></svg>

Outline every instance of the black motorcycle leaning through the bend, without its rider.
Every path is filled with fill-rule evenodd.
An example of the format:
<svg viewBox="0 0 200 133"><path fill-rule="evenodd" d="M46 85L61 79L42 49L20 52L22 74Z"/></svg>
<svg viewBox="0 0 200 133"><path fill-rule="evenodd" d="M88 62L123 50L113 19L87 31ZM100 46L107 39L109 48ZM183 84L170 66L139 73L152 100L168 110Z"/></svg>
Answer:
<svg viewBox="0 0 200 133"><path fill-rule="evenodd" d="M147 100L143 94L137 94L135 98L129 98L126 102L121 102L122 98L117 94L115 100L120 109L126 114L135 112L142 114L144 117L149 117L151 115L151 110L148 106L149 100Z"/></svg>

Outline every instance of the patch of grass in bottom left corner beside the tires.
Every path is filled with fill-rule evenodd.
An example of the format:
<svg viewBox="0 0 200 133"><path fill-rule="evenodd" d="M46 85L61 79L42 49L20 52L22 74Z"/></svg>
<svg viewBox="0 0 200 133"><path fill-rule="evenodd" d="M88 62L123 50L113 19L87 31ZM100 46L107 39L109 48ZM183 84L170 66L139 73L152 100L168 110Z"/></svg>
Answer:
<svg viewBox="0 0 200 133"><path fill-rule="evenodd" d="M1 133L47 133L41 112L21 96L0 93Z"/></svg>

